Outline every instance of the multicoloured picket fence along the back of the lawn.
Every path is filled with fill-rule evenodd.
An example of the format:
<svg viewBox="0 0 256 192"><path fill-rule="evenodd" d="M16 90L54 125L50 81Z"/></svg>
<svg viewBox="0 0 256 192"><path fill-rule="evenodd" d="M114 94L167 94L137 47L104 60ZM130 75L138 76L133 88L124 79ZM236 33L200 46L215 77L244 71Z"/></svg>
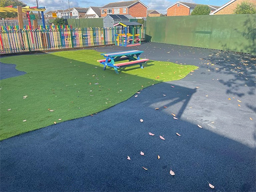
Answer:
<svg viewBox="0 0 256 192"><path fill-rule="evenodd" d="M145 39L145 28L141 29ZM121 28L82 28L0 31L0 54L47 51L115 44Z"/></svg>

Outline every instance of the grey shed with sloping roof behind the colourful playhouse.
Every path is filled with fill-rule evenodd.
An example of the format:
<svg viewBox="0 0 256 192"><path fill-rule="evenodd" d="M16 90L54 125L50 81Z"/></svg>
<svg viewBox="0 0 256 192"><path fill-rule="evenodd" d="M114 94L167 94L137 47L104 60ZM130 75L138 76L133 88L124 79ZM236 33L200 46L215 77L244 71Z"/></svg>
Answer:
<svg viewBox="0 0 256 192"><path fill-rule="evenodd" d="M103 18L103 27L113 27L116 23L130 22L130 19L134 19L131 15L115 15L109 14Z"/></svg>

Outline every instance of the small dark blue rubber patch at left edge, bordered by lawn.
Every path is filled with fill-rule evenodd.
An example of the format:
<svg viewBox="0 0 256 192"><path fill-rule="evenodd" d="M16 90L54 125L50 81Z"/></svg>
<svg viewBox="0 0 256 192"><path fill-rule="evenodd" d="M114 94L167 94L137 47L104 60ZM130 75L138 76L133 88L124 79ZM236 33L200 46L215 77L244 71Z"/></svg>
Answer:
<svg viewBox="0 0 256 192"><path fill-rule="evenodd" d="M16 65L14 64L5 64L0 62L0 80L26 74L24 71L16 70L15 67Z"/></svg>

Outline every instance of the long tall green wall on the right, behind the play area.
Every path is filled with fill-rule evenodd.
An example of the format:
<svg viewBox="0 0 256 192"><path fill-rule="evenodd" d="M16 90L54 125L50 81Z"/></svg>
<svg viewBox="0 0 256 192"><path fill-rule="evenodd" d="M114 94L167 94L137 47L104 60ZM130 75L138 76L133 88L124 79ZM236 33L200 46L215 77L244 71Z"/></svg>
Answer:
<svg viewBox="0 0 256 192"><path fill-rule="evenodd" d="M147 17L147 40L256 55L256 14Z"/></svg>

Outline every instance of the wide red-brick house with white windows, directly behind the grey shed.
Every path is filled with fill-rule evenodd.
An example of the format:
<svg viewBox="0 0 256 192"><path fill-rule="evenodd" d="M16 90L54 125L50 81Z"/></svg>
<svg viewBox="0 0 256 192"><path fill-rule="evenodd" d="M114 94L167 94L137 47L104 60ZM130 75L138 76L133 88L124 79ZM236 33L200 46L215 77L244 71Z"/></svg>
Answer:
<svg viewBox="0 0 256 192"><path fill-rule="evenodd" d="M148 7L140 1L110 3L100 8L101 17L108 14L130 14L133 17L146 17Z"/></svg>

